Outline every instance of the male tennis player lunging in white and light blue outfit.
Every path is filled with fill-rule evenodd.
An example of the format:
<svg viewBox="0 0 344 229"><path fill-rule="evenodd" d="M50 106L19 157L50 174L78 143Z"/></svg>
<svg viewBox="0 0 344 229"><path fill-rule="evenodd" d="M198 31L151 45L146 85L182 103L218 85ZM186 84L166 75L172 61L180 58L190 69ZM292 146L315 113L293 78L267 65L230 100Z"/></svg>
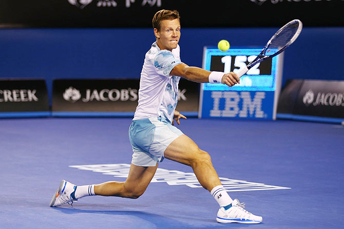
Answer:
<svg viewBox="0 0 344 229"><path fill-rule="evenodd" d="M229 87L239 83L231 72L209 72L189 67L180 61L180 19L177 11L160 10L152 20L155 41L146 53L141 72L138 107L129 128L133 155L125 182L76 186L62 180L50 206L73 202L84 196L119 196L136 199L145 190L164 158L189 165L204 189L219 203L217 221L222 223L260 223L262 217L243 209L223 188L213 168L211 157L174 127L186 117L175 110L180 77L196 82L222 83Z"/></svg>

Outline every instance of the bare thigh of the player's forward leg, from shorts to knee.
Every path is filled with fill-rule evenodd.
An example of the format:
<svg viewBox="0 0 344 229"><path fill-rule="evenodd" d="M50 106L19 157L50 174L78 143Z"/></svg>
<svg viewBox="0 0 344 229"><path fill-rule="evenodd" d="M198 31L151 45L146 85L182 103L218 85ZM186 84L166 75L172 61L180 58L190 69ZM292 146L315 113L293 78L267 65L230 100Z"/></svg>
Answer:
<svg viewBox="0 0 344 229"><path fill-rule="evenodd" d="M197 158L208 156L208 154L198 148L198 145L188 136L180 135L168 145L164 152L164 157L186 165L192 164Z"/></svg>

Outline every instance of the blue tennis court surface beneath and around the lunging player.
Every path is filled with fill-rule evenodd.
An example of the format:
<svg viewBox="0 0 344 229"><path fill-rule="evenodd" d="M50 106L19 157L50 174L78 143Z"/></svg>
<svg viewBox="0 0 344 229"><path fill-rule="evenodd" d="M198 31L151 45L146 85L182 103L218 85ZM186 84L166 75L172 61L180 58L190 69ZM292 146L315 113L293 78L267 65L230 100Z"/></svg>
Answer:
<svg viewBox="0 0 344 229"><path fill-rule="evenodd" d="M193 171L165 159L139 199L49 207L60 181L124 181L130 118L0 119L0 228L342 228L344 127L288 120L181 120L228 194L261 224L220 224Z"/></svg>

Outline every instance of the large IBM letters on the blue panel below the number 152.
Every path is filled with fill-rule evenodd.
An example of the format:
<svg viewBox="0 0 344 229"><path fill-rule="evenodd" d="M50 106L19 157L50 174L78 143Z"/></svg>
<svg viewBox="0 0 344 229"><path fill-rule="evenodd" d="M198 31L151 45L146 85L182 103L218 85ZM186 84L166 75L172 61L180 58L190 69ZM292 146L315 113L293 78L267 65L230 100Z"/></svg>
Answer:
<svg viewBox="0 0 344 229"><path fill-rule="evenodd" d="M242 91L213 91L213 110L210 111L211 117L242 117L245 118L250 113L250 117L264 118L264 112L261 110L262 99L265 98L265 92L256 92L254 98L251 98L250 92ZM224 110L220 110L220 100L224 99ZM239 102L242 99L240 109Z"/></svg>

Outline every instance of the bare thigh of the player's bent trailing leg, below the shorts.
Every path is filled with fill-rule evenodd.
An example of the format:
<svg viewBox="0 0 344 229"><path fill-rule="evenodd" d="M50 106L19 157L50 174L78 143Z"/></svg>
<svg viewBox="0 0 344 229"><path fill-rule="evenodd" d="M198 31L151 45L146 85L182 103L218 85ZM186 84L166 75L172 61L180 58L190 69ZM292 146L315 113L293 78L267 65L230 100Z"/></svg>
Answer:
<svg viewBox="0 0 344 229"><path fill-rule="evenodd" d="M145 191L157 168L158 163L156 166L147 167L131 164L128 178L124 184L125 188L130 191Z"/></svg>

